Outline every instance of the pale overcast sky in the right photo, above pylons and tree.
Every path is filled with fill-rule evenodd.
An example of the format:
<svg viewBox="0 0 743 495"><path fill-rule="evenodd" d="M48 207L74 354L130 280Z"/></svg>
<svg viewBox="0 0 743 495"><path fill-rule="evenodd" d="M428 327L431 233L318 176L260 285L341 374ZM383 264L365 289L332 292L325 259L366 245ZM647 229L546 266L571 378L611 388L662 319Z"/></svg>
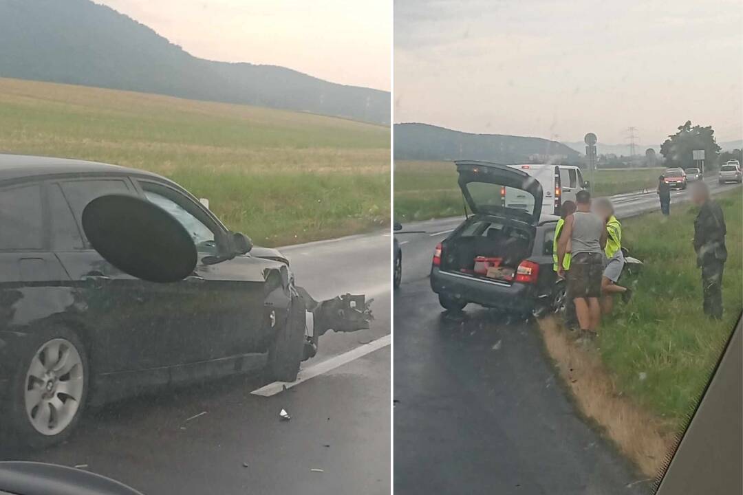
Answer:
<svg viewBox="0 0 743 495"><path fill-rule="evenodd" d="M659 144L743 137L741 0L395 0L395 122Z"/></svg>

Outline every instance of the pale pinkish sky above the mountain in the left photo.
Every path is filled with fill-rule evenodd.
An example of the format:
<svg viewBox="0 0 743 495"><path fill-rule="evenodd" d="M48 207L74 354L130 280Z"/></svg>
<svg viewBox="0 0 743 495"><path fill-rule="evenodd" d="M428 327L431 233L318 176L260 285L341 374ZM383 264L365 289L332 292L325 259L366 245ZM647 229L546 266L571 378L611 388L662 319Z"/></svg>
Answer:
<svg viewBox="0 0 743 495"><path fill-rule="evenodd" d="M386 0L94 0L194 56L282 65L389 91L392 6Z"/></svg>

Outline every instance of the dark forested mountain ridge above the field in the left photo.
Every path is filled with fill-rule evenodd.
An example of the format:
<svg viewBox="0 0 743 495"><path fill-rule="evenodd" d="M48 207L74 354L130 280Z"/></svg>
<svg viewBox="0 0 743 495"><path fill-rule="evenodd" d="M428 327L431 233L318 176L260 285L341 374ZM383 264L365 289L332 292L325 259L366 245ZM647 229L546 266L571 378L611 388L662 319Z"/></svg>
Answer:
<svg viewBox="0 0 743 495"><path fill-rule="evenodd" d="M89 0L1 0L0 76L389 124L390 94L274 65L199 59Z"/></svg>

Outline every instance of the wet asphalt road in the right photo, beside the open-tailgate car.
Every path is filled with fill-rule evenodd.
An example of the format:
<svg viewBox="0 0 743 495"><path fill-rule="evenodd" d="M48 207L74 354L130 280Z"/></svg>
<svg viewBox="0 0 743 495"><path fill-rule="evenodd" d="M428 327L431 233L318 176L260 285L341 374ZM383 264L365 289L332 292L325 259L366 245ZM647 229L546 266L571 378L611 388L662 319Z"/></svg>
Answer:
<svg viewBox="0 0 743 495"><path fill-rule="evenodd" d="M672 193L672 203L686 198ZM660 209L655 191L612 199L618 217ZM580 419L533 321L476 305L463 317L443 312L429 286L431 256L461 220L396 234L395 494L649 493L650 481Z"/></svg>

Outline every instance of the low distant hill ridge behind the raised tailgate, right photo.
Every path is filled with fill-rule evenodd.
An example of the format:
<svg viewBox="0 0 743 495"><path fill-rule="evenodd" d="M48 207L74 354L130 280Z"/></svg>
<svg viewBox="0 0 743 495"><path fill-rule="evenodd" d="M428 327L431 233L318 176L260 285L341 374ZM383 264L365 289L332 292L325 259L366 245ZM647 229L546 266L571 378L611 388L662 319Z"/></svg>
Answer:
<svg viewBox="0 0 743 495"><path fill-rule="evenodd" d="M470 134L421 123L395 124L395 160L485 160L539 163L548 157L580 162L580 154L557 141L505 134Z"/></svg>

